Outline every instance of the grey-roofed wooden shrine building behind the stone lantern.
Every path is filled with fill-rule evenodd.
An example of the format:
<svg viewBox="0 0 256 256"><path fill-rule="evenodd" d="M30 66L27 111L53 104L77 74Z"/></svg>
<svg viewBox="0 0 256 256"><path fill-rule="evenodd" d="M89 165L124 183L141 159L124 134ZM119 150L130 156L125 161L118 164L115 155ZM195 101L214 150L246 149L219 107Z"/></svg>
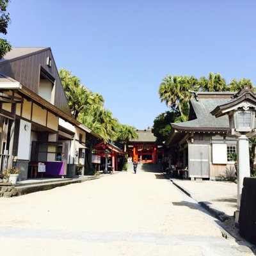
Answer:
<svg viewBox="0 0 256 256"><path fill-rule="evenodd" d="M216 106L228 102L233 95L234 92L193 93L188 122L173 123L165 142L171 152L170 166L179 161L182 168L188 168L191 179L225 179L235 175L230 153L236 153L236 138L229 134L228 116L211 115Z"/></svg>

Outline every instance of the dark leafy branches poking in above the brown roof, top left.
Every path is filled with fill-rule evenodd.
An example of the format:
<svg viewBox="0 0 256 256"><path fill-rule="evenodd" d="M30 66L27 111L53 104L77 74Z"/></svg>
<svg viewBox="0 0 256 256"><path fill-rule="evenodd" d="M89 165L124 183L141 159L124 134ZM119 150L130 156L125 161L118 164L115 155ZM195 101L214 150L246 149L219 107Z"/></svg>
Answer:
<svg viewBox="0 0 256 256"><path fill-rule="evenodd" d="M0 33L3 35L7 34L7 28L10 24L9 13L6 12L9 0L0 0ZM11 51L12 46L4 39L0 38L0 59L3 59L4 55Z"/></svg>

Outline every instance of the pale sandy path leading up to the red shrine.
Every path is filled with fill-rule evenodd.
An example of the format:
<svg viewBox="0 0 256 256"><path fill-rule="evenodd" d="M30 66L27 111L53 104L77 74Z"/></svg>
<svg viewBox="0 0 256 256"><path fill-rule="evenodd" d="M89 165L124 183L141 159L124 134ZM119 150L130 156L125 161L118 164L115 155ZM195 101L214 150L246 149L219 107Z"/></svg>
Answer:
<svg viewBox="0 0 256 256"><path fill-rule="evenodd" d="M1 255L253 255L160 173L0 199Z"/></svg>

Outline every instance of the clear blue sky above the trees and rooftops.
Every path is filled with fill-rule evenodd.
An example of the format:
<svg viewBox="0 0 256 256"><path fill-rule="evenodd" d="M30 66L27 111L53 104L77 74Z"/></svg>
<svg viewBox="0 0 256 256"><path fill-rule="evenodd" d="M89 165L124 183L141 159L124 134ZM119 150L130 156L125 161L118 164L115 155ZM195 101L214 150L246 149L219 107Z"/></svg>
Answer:
<svg viewBox="0 0 256 256"><path fill-rule="evenodd" d="M12 0L13 47L51 47L122 124L152 126L168 110L164 76L256 82L255 0Z"/></svg>

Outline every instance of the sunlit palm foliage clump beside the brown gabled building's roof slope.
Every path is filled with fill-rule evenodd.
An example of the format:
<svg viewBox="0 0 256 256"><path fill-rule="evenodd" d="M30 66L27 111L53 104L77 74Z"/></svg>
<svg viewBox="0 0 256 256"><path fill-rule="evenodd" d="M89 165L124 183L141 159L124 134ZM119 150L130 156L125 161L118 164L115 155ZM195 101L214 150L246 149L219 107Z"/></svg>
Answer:
<svg viewBox="0 0 256 256"><path fill-rule="evenodd" d="M126 126L120 125L111 111L104 108L102 95L88 90L78 77L64 68L60 69L60 79L74 118L99 134L105 142L115 141L122 127ZM128 127L129 125L126 127L127 131Z"/></svg>

